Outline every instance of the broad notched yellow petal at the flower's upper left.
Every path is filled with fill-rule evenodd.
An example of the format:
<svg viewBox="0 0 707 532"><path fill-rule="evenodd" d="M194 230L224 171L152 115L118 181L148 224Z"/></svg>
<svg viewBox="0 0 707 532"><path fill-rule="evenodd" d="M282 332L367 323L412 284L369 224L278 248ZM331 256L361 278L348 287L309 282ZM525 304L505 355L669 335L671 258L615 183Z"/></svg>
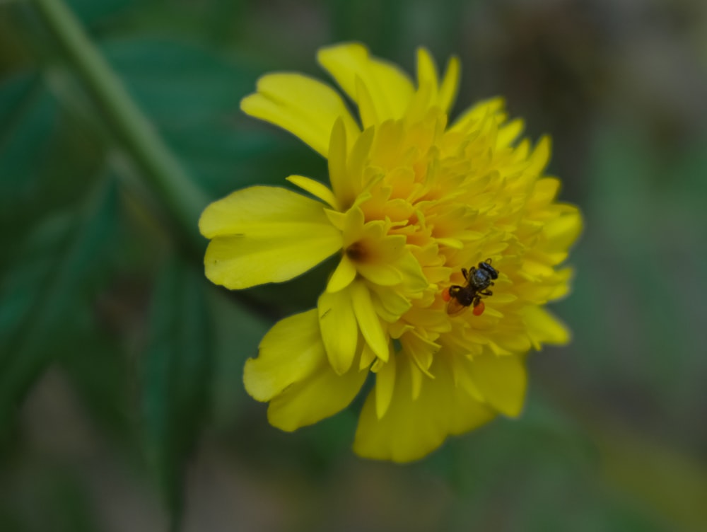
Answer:
<svg viewBox="0 0 707 532"><path fill-rule="evenodd" d="M323 156L329 151L329 134L341 117L355 138L358 126L344 100L331 87L303 74L268 74L258 80L257 93L241 100L248 115L286 129Z"/></svg>

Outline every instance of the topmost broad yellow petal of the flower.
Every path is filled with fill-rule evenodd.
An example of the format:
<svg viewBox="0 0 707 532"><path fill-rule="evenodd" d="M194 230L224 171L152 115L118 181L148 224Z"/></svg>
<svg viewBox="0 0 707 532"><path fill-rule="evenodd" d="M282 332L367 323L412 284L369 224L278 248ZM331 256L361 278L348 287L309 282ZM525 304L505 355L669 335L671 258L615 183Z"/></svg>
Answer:
<svg viewBox="0 0 707 532"><path fill-rule="evenodd" d="M356 78L361 79L381 122L403 116L414 87L407 74L394 64L370 57L368 49L355 42L321 48L317 60L356 103ZM363 122L364 128L369 125Z"/></svg>

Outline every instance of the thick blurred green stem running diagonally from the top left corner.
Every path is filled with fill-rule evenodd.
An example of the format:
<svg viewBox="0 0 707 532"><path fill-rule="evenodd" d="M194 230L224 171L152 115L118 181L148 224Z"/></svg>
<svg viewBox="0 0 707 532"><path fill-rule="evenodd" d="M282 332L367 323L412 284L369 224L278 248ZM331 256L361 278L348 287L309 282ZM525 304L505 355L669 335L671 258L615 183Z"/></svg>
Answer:
<svg viewBox="0 0 707 532"><path fill-rule="evenodd" d="M185 173L179 161L137 108L71 10L62 0L34 0L37 12L62 46L78 79L103 112L110 131L163 199L170 215L199 248L197 220L209 199Z"/></svg>

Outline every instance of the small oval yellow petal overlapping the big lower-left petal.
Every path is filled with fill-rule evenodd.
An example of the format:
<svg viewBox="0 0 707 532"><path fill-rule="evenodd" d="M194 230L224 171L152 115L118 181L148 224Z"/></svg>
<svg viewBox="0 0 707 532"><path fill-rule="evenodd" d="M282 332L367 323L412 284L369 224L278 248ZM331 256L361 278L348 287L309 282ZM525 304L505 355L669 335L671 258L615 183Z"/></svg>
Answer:
<svg viewBox="0 0 707 532"><path fill-rule="evenodd" d="M317 303L322 340L337 374L349 371L356 354L358 325L348 290L325 292Z"/></svg>

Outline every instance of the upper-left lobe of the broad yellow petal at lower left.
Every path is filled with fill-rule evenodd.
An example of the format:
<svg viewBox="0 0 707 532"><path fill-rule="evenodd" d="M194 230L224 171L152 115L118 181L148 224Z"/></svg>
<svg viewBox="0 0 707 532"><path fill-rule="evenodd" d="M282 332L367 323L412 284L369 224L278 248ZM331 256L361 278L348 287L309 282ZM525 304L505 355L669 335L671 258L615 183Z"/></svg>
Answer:
<svg viewBox="0 0 707 532"><path fill-rule="evenodd" d="M317 311L284 318L263 337L258 357L245 362L245 390L255 400L269 401L312 374L322 360L326 362Z"/></svg>

